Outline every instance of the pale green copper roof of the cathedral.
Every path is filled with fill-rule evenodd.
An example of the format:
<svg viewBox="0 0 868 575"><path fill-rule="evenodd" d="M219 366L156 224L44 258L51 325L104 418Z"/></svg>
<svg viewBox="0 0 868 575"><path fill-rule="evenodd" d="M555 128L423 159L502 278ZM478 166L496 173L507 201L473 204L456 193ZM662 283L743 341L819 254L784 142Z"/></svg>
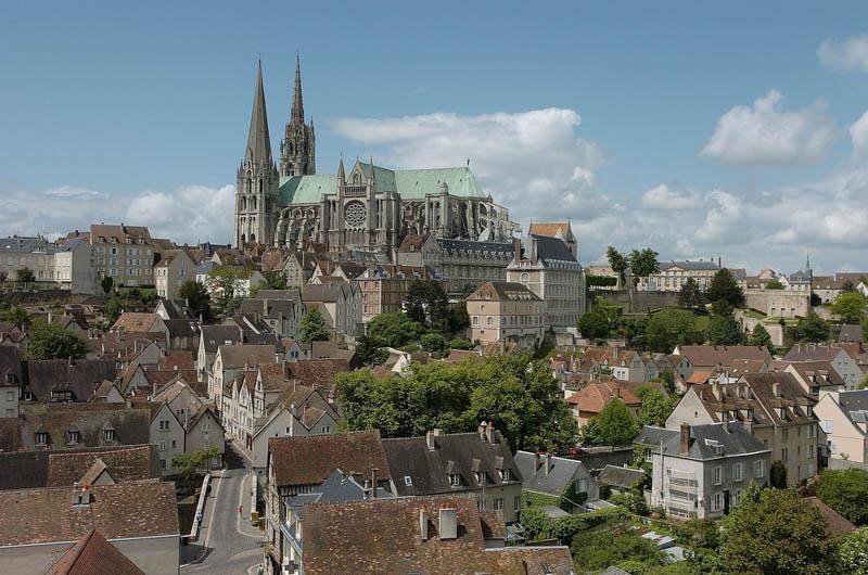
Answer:
<svg viewBox="0 0 868 575"><path fill-rule="evenodd" d="M360 165L366 175L370 173L370 164ZM403 200L424 200L426 194L438 194L444 181L449 187L449 195L481 200L488 196L468 168L392 170L374 165L373 169L376 190L397 191ZM282 205L316 204L324 193L337 193L337 176L334 174L293 176L280 180Z"/></svg>

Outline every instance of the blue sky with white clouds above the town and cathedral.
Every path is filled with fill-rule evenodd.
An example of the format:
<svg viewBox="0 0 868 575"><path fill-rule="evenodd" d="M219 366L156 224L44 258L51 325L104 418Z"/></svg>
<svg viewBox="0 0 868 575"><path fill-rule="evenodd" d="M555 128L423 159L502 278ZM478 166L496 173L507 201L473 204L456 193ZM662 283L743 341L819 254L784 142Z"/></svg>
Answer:
<svg viewBox="0 0 868 575"><path fill-rule="evenodd" d="M231 239L261 59L317 167L463 166L526 229L755 272L868 269L865 2L13 2L0 234Z"/></svg>

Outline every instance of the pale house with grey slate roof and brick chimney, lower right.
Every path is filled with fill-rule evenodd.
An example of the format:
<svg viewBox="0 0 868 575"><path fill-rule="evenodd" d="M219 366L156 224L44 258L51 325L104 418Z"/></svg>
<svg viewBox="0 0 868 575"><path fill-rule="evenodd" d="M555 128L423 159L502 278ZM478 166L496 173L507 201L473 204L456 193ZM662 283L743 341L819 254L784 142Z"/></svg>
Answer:
<svg viewBox="0 0 868 575"><path fill-rule="evenodd" d="M650 451L651 506L677 519L719 519L751 483L769 482L771 451L740 423L646 425L637 445Z"/></svg>

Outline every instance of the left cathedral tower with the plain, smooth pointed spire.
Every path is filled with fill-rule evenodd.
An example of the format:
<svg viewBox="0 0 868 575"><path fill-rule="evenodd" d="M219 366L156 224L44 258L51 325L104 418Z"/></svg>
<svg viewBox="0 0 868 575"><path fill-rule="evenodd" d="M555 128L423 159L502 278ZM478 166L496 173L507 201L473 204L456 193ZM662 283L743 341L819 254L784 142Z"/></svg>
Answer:
<svg viewBox="0 0 868 575"><path fill-rule="evenodd" d="M243 247L250 242L270 244L273 241L271 235L275 233L280 207L278 187L278 168L271 156L260 62L256 72L247 148L238 168L234 239L237 247Z"/></svg>

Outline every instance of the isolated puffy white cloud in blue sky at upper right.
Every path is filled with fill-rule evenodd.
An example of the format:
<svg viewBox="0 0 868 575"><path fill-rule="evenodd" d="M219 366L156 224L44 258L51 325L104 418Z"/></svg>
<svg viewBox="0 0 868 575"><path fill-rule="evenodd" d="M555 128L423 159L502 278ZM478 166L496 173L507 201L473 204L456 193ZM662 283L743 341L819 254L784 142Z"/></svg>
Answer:
<svg viewBox="0 0 868 575"><path fill-rule="evenodd" d="M826 105L781 110L781 93L770 90L753 105L738 105L717 122L700 156L737 166L786 166L816 162L832 141L835 126Z"/></svg>

